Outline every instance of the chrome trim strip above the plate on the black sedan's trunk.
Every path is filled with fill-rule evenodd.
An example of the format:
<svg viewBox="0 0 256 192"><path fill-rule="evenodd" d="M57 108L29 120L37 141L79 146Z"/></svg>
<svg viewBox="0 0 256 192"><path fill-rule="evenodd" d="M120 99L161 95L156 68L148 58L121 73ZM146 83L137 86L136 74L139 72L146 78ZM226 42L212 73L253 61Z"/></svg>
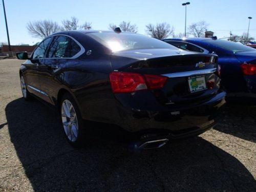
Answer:
<svg viewBox="0 0 256 192"><path fill-rule="evenodd" d="M163 76L172 78L172 77L187 77L187 76L193 76L193 75L203 75L208 73L214 73L216 72L217 68L211 68L211 69L202 69L202 70L195 70L195 71L184 71L184 72L178 72L178 73L167 73L162 74Z"/></svg>

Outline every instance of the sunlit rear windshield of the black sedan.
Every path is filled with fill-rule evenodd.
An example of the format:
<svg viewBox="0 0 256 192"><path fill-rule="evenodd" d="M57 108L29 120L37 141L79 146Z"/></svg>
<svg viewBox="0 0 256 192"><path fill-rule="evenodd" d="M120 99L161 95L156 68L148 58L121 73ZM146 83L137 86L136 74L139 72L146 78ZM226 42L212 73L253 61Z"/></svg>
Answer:
<svg viewBox="0 0 256 192"><path fill-rule="evenodd" d="M97 32L87 35L113 52L129 49L177 49L164 41L135 33Z"/></svg>

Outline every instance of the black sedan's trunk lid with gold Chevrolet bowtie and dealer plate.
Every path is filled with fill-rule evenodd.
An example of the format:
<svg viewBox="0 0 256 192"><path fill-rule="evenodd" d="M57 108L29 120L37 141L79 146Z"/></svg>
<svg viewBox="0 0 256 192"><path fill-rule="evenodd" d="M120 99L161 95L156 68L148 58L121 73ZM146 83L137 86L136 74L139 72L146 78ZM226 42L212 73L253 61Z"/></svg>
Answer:
<svg viewBox="0 0 256 192"><path fill-rule="evenodd" d="M157 100L164 105L190 105L210 99L219 90L217 60L217 55L180 50L131 50L114 53L112 67L115 71L166 76L164 86L152 91Z"/></svg>

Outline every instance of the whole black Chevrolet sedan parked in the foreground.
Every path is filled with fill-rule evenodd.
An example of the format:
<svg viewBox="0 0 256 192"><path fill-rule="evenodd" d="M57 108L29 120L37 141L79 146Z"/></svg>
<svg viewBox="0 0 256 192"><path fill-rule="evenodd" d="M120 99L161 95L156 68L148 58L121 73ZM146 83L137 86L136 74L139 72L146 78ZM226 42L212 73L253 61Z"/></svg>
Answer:
<svg viewBox="0 0 256 192"><path fill-rule="evenodd" d="M141 138L139 148L195 136L215 125L225 92L214 54L177 49L145 35L65 31L50 35L19 75L25 100L56 106L73 146L92 121L117 124ZM39 115L39 112L38 112Z"/></svg>

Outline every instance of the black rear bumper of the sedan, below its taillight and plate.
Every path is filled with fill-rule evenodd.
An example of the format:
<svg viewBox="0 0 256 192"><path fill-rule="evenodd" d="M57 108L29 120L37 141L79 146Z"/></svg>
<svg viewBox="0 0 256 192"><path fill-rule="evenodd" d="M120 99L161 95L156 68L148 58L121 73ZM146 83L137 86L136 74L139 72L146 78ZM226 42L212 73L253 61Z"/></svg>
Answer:
<svg viewBox="0 0 256 192"><path fill-rule="evenodd" d="M118 125L130 132L168 135L180 139L199 135L214 126L221 117L226 93L221 92L208 101L186 108L149 111L129 109L119 105Z"/></svg>

